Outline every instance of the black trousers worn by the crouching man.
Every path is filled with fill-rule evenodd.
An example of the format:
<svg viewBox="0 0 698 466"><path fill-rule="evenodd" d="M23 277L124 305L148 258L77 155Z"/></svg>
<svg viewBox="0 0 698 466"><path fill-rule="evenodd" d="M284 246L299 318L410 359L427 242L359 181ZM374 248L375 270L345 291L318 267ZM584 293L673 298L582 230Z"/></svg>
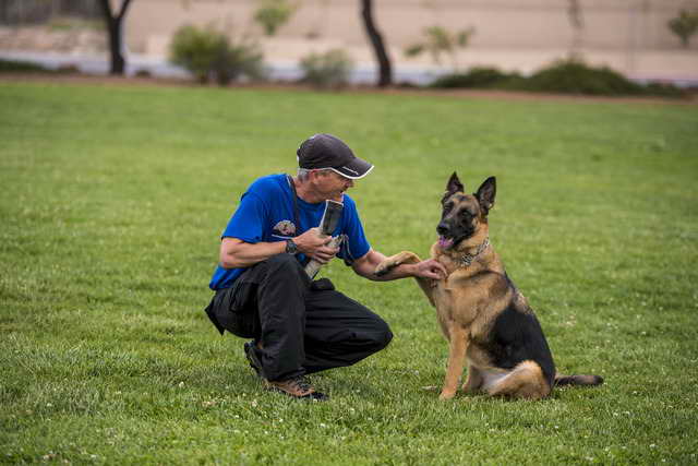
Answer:
<svg viewBox="0 0 698 466"><path fill-rule="evenodd" d="M229 331L231 312L252 313L262 344L254 351L267 380L351 366L390 343L393 333L378 315L332 286L317 288L293 255L278 254L245 271L232 289L219 290L207 312Z"/></svg>

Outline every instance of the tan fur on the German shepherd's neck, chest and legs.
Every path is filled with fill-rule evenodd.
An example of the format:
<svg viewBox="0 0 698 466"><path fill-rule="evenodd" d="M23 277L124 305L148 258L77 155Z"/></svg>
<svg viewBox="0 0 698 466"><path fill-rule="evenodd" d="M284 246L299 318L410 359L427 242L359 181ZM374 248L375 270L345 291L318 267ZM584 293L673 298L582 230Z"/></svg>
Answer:
<svg viewBox="0 0 698 466"><path fill-rule="evenodd" d="M459 203L477 203L472 195L457 193L452 196ZM462 385L467 393L485 391L493 396L539 399L551 392L541 368L533 361L524 361L512 370L493 367L489 354L481 348L490 333L494 319L515 298L517 307L528 309L526 298L506 280L504 265L492 246L484 249L467 267L460 266L458 258L474 254L488 238L489 226L480 211L473 236L461 241L455 250L444 251L438 243L431 248L431 256L448 271L442 280L416 278L429 301L436 308L436 318L444 336L449 342L448 363L441 399L455 396L465 366L468 379ZM420 262L413 252L402 251L387 258L376 267L381 275L405 263ZM513 297L513 294L517 294ZM526 309L524 309L526 308ZM488 384L488 381L491 383Z"/></svg>

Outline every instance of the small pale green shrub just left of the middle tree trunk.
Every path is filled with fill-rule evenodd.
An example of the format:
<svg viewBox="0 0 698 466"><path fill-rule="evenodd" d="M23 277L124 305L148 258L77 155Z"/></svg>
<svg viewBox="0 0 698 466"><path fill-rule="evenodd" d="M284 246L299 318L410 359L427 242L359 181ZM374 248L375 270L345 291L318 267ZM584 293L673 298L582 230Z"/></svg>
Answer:
<svg viewBox="0 0 698 466"><path fill-rule="evenodd" d="M303 70L301 81L322 88L346 85L353 69L351 57L341 49L311 53L300 64Z"/></svg>

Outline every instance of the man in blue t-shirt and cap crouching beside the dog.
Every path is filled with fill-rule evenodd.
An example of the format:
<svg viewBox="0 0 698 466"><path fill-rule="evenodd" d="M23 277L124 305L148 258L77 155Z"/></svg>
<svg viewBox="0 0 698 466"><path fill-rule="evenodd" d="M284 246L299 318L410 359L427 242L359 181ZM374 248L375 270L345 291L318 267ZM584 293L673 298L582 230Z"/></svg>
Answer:
<svg viewBox="0 0 698 466"><path fill-rule="evenodd" d="M372 280L437 279L446 271L426 260L374 276L385 256L371 249L346 194L373 166L329 134L308 139L297 155L296 177L266 176L242 194L221 235L220 263L209 284L216 295L206 313L221 334L228 330L253 338L244 353L267 389L323 401L327 396L305 375L351 366L385 348L393 334L378 315L335 290L328 279L312 280L304 264L325 264L338 255ZM338 248L316 228L327 200L344 204L332 234L344 238Z"/></svg>

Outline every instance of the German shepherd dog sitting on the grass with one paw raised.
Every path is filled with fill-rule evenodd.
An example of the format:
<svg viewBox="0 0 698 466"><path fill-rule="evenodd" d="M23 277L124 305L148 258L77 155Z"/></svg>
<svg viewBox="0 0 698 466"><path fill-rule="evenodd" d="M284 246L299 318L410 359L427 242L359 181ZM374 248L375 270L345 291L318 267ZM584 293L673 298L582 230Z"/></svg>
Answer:
<svg viewBox="0 0 698 466"><path fill-rule="evenodd" d="M441 399L456 394L468 362L466 393L540 399L554 385L600 385L599 375L557 375L538 319L507 276L489 239L488 214L494 206L496 180L488 178L474 194L454 172L442 199L438 241L431 256L448 271L442 280L417 278L436 308L449 342L448 368ZM375 270L383 275L404 263L420 262L413 252L387 258Z"/></svg>

